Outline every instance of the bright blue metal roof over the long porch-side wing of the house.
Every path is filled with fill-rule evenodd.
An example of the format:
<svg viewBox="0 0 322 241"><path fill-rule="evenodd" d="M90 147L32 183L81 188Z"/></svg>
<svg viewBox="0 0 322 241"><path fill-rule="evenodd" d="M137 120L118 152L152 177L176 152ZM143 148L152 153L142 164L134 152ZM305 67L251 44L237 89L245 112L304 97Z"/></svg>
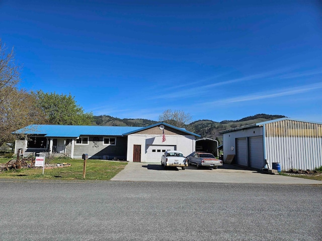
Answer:
<svg viewBox="0 0 322 241"><path fill-rule="evenodd" d="M59 126L30 125L14 134L34 134L46 137L79 137L79 136L123 136L142 127L107 127L107 126Z"/></svg>

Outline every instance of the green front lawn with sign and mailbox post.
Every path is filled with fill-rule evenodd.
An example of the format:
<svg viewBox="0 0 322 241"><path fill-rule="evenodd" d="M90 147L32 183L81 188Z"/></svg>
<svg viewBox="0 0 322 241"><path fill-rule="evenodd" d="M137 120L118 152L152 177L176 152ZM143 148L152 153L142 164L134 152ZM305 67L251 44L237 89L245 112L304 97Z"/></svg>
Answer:
<svg viewBox="0 0 322 241"><path fill-rule="evenodd" d="M0 158L0 163L5 164L10 159ZM46 162L47 163L47 162ZM19 170L2 171L0 178L15 179L56 179L56 180L110 180L127 165L126 162L87 160L86 176L83 178L84 160L70 158L56 158L50 164L68 163L71 166L62 168L45 169L42 175L41 168L22 168Z"/></svg>

